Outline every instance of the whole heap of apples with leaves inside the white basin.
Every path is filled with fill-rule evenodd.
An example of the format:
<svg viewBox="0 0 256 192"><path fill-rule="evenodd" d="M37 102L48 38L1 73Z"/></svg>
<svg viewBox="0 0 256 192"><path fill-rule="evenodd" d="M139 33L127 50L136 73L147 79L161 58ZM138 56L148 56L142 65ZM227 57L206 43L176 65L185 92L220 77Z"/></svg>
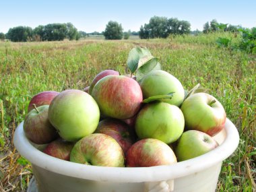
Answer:
<svg viewBox="0 0 256 192"><path fill-rule="evenodd" d="M44 153L95 166L159 166L201 156L226 121L210 94L187 92L146 48L129 53L133 75L104 70L85 90L44 91L30 100L26 137Z"/></svg>

